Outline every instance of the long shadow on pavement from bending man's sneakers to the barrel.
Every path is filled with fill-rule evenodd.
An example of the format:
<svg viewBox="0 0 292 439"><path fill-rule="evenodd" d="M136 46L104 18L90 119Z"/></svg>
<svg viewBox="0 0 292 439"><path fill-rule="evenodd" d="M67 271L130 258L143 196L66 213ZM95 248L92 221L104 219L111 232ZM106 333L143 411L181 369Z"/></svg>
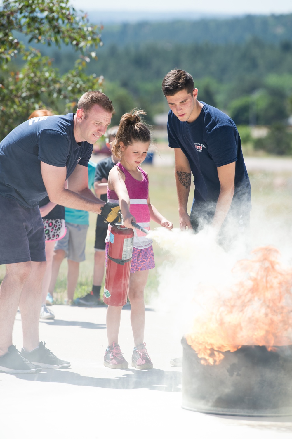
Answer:
<svg viewBox="0 0 292 439"><path fill-rule="evenodd" d="M27 381L55 382L72 385L102 387L106 389L150 389L162 392L181 392L181 372L162 371L137 371L131 369L130 374L114 378L85 377L75 372L47 370L39 374L17 375L17 378Z"/></svg>

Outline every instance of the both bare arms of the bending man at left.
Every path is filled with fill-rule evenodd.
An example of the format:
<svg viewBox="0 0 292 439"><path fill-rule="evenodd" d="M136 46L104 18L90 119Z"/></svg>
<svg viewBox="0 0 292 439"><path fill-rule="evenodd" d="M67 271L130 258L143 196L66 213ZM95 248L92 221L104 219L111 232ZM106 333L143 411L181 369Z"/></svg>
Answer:
<svg viewBox="0 0 292 439"><path fill-rule="evenodd" d="M83 169L82 169L83 168ZM41 172L50 201L72 209L100 213L104 201L96 198L88 187L88 170L77 165L64 188L67 169L41 162Z"/></svg>

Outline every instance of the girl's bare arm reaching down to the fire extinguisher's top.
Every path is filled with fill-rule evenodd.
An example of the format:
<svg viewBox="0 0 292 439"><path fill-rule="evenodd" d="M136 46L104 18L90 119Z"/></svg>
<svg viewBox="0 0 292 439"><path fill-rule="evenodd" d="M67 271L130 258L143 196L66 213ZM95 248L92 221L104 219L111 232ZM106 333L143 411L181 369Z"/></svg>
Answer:
<svg viewBox="0 0 292 439"><path fill-rule="evenodd" d="M109 189L114 190L118 195L125 226L132 229L132 221L135 223L136 220L130 213L130 198L125 185L125 174L118 168L118 166L114 166L110 169L107 184Z"/></svg>

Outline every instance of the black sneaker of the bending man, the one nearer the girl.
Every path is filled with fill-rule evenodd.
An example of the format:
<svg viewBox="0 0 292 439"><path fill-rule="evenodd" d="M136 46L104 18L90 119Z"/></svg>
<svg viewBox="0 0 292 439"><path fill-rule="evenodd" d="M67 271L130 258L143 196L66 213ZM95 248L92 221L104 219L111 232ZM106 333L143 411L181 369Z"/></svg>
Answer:
<svg viewBox="0 0 292 439"><path fill-rule="evenodd" d="M21 355L27 358L31 363L45 369L68 369L68 367L71 366L69 361L60 360L50 349L47 349L46 342L40 342L39 347L32 352L25 352L22 348Z"/></svg>

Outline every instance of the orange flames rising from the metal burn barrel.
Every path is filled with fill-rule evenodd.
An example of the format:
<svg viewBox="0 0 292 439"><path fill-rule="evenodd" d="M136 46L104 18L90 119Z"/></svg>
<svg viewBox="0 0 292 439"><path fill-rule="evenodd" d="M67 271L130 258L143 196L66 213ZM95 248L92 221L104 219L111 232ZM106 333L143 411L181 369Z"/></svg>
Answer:
<svg viewBox="0 0 292 439"><path fill-rule="evenodd" d="M275 346L292 344L292 269L281 267L280 252L261 247L253 259L235 264L233 272L241 277L228 297L217 297L211 312L201 315L185 335L202 364L219 364L222 352L234 352L242 345ZM202 285L199 291L209 291Z"/></svg>

